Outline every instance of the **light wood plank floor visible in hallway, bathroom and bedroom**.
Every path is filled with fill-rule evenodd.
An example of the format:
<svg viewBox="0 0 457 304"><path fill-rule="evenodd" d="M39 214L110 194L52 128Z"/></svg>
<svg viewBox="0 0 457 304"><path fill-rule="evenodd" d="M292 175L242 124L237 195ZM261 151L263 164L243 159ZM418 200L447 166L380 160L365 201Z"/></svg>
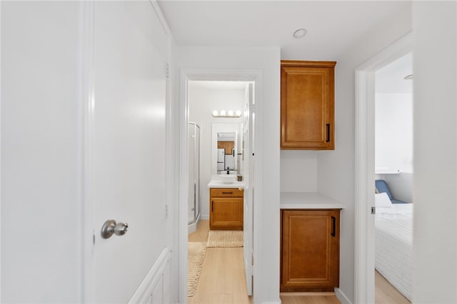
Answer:
<svg viewBox="0 0 457 304"><path fill-rule="evenodd" d="M200 221L196 232L189 234L189 242L205 242L208 239L209 221ZM376 304L409 304L408 299L393 288L376 271ZM282 304L338 304L335 293L281 293ZM206 248L199 285L189 304L226 303L252 304L246 295L243 248Z"/></svg>

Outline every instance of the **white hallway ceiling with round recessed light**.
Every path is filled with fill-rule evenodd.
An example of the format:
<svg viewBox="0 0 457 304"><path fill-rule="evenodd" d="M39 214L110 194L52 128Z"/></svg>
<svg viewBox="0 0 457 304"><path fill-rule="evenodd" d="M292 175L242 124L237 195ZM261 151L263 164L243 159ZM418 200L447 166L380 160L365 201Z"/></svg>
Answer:
<svg viewBox="0 0 457 304"><path fill-rule="evenodd" d="M179 46L280 46L281 59L336 60L411 1L174 1L159 6ZM308 31L294 39L296 29Z"/></svg>

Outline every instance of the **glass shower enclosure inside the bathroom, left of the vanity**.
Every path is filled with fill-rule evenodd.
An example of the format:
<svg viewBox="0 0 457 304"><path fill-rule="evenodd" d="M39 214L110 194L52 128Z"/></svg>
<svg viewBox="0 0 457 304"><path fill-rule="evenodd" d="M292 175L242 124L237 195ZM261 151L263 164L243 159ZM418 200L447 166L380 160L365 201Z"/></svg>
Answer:
<svg viewBox="0 0 457 304"><path fill-rule="evenodd" d="M200 221L201 193L200 193L200 126L189 122L189 196L188 196L188 223L189 233L196 230Z"/></svg>

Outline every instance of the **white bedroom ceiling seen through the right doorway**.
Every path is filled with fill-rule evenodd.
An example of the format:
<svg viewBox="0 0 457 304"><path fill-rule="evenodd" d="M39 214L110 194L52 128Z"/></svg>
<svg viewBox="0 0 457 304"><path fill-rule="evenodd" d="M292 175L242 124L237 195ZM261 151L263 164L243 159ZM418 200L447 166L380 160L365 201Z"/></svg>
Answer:
<svg viewBox="0 0 457 304"><path fill-rule="evenodd" d="M413 93L413 80L405 76L413 74L413 54L396 59L376 71L376 93Z"/></svg>

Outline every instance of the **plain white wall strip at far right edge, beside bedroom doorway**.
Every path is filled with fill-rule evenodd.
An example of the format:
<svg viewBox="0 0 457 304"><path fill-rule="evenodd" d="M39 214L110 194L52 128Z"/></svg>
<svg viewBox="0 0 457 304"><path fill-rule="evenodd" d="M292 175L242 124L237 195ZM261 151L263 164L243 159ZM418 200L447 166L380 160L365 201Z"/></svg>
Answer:
<svg viewBox="0 0 457 304"><path fill-rule="evenodd" d="M413 303L457 303L457 4L413 1Z"/></svg>

